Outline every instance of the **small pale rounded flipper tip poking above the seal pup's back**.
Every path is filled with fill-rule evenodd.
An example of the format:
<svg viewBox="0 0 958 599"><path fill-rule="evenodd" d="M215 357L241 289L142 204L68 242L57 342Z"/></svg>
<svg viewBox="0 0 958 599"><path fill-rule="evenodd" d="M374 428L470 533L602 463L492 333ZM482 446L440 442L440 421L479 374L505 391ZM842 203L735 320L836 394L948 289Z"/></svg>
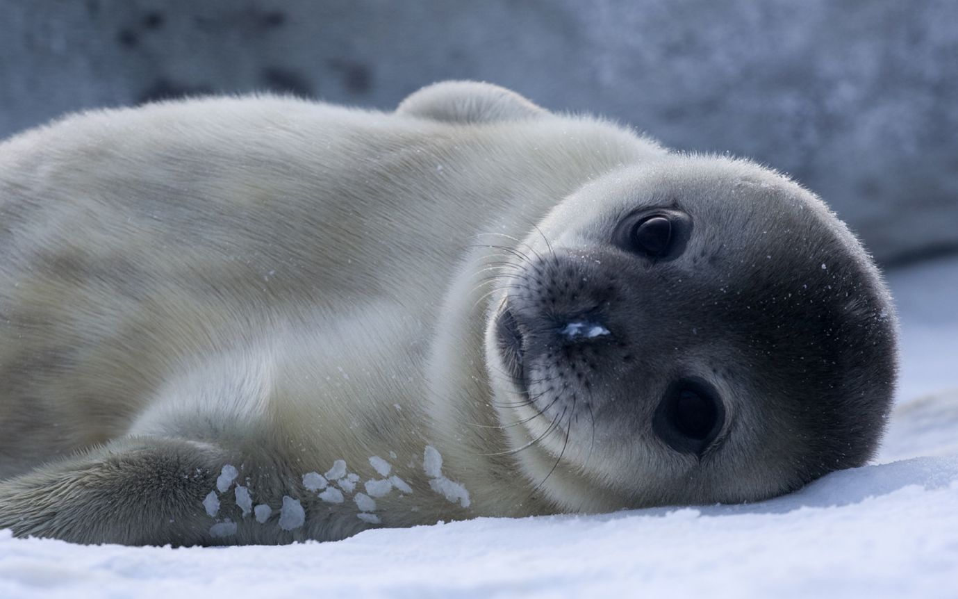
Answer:
<svg viewBox="0 0 958 599"><path fill-rule="evenodd" d="M399 103L396 113L441 123L475 125L536 119L549 111L491 83L441 81L413 92Z"/></svg>

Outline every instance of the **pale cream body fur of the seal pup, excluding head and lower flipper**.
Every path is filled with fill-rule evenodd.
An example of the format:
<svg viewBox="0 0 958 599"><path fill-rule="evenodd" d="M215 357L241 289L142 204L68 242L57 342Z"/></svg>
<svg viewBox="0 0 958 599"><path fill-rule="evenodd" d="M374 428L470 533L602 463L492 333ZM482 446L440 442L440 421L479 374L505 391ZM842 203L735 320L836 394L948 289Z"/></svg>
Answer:
<svg viewBox="0 0 958 599"><path fill-rule="evenodd" d="M488 251L478 234L521 237L584 182L662 150L455 85L468 98L442 119L422 92L393 114L210 98L87 112L0 146L0 475L27 472L26 488L43 461L123 438L216 447L247 469L295 460L298 476L340 458L371 475L369 457L394 451L413 493L377 499L387 524L535 511L527 483L495 483L514 474L476 455L506 440L460 435L483 424L451 396L485 378L484 323L447 332L471 356L447 362L443 298L463 257ZM485 289L456 285L451 310L471 312ZM430 444L468 510L429 490ZM342 530L367 524L353 520Z"/></svg>

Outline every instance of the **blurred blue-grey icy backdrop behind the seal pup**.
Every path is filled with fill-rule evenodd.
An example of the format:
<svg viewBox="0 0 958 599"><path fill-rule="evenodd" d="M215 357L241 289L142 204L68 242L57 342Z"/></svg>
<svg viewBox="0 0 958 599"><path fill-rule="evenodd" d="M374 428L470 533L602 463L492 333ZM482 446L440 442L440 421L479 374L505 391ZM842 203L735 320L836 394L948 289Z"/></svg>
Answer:
<svg viewBox="0 0 958 599"><path fill-rule="evenodd" d="M0 136L209 93L388 110L445 79L791 173L889 269L900 305L955 319L958 276L934 265L958 256L958 2L0 0ZM939 375L958 370L955 337Z"/></svg>

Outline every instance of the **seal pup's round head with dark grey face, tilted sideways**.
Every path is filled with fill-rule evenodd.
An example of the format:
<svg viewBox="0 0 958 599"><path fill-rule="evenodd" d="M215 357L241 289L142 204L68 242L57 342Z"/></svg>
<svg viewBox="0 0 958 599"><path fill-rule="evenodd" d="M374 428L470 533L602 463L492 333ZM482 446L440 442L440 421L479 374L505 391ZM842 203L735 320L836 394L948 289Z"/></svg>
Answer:
<svg viewBox="0 0 958 599"><path fill-rule="evenodd" d="M528 402L528 437L567 477L624 505L741 501L876 449L894 311L805 190L674 156L587 186L539 229L503 275L487 352L497 397Z"/></svg>

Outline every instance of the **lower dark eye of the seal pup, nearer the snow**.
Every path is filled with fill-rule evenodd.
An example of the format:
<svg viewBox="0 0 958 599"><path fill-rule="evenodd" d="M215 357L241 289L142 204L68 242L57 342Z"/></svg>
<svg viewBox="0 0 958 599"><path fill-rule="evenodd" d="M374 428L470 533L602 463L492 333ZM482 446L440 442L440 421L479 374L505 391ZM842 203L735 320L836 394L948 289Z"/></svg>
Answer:
<svg viewBox="0 0 958 599"><path fill-rule="evenodd" d="M676 451L701 454L724 419L725 410L708 385L681 380L669 385L655 409L652 430Z"/></svg>

